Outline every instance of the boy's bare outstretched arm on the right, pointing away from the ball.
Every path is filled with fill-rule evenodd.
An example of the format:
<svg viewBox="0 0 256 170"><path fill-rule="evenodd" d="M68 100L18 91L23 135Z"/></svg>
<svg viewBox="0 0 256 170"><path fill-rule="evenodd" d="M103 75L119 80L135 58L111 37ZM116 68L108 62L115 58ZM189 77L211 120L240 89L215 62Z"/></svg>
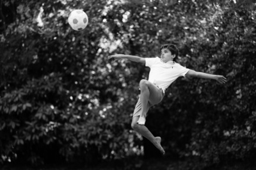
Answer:
<svg viewBox="0 0 256 170"><path fill-rule="evenodd" d="M186 73L188 76L198 77L198 78L204 78L204 79L214 79L221 84L227 82L227 79L223 75L214 75L209 73L203 73L203 72L196 72L194 70L189 70L188 73Z"/></svg>

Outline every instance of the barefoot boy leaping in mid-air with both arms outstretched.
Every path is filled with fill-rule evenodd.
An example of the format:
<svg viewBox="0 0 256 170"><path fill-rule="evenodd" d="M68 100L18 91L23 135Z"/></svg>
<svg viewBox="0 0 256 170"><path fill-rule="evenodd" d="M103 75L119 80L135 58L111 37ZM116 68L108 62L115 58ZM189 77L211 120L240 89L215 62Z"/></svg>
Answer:
<svg viewBox="0 0 256 170"><path fill-rule="evenodd" d="M180 76L189 75L205 79L214 79L221 84L227 82L227 79L222 75L195 72L194 70L189 70L175 63L175 59L179 55L179 50L175 45L165 44L161 46L160 50L161 58L140 58L138 56L124 54L115 54L108 58L129 59L138 63L145 63L146 66L150 67L148 81L145 79L140 81L140 98L133 112L131 127L136 132L146 137L164 154L164 149L161 146L161 137L154 137L148 128L145 127L148 109L163 100L165 89Z"/></svg>

